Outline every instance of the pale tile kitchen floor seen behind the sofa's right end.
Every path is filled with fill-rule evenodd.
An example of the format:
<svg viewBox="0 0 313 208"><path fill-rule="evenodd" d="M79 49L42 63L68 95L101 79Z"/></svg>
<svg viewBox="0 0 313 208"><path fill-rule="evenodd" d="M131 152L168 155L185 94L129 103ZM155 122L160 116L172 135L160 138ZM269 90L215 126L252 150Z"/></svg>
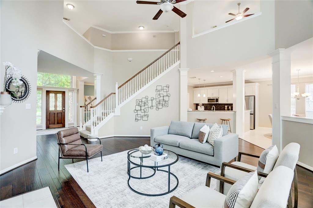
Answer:
<svg viewBox="0 0 313 208"><path fill-rule="evenodd" d="M263 149L268 148L272 145L272 140L265 137L265 135L270 135L272 133L272 128L268 127L257 127L254 130L247 131L244 133L244 141L248 141L251 144L259 146Z"/></svg>

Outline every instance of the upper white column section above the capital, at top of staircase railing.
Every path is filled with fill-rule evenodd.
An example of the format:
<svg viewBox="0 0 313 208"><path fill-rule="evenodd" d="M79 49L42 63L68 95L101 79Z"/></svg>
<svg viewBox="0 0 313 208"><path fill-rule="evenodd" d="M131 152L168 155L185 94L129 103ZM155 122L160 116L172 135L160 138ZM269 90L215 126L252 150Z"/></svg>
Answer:
<svg viewBox="0 0 313 208"><path fill-rule="evenodd" d="M180 10L186 13L186 5L181 4ZM187 67L187 17L180 19L180 67Z"/></svg>

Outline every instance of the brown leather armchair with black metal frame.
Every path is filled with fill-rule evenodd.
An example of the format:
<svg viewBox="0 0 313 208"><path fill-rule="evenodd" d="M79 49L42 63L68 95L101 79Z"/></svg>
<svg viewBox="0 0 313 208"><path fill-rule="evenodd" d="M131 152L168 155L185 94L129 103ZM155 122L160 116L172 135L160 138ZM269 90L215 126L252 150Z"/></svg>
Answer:
<svg viewBox="0 0 313 208"><path fill-rule="evenodd" d="M59 161L58 169L60 170L60 158L62 159L86 159L87 172L88 172L88 159L95 156L100 152L102 161L102 149L103 145L99 138L100 144L82 144L80 140L80 134L77 127L58 131L56 137L59 145ZM85 138L89 139L89 138ZM60 156L61 153L61 156Z"/></svg>

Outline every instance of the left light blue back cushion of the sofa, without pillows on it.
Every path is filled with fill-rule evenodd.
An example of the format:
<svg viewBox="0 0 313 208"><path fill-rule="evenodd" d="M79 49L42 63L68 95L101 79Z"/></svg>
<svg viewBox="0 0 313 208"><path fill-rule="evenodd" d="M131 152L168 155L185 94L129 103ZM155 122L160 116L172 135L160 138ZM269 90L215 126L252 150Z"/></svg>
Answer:
<svg viewBox="0 0 313 208"><path fill-rule="evenodd" d="M168 134L187 136L191 138L194 122L172 121L168 129ZM202 125L203 126L203 125ZM200 131L200 129L199 129ZM199 132L198 132L199 133Z"/></svg>

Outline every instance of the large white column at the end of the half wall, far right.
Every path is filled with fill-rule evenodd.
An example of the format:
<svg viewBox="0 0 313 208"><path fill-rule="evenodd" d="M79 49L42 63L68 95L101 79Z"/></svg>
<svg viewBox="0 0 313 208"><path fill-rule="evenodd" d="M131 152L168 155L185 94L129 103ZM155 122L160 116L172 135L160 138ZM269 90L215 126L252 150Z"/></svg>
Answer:
<svg viewBox="0 0 313 208"><path fill-rule="evenodd" d="M281 116L290 116L290 52L284 48L269 54L272 57L273 129L272 143L282 150Z"/></svg>

